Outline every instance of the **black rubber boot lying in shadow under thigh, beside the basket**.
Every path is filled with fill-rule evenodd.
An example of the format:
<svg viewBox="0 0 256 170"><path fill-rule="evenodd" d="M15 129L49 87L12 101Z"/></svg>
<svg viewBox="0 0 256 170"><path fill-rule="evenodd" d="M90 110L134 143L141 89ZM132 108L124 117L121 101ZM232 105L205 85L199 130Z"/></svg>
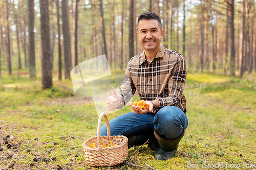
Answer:
<svg viewBox="0 0 256 170"><path fill-rule="evenodd" d="M134 145L142 145L144 144L148 139L149 144L152 143L152 147L156 147L156 142L157 142L157 138L155 137L154 133L141 133L141 134L135 134L135 135L130 135L127 136L128 138L128 148L133 147ZM153 144L153 141L154 144ZM157 142L157 145L158 142Z"/></svg>

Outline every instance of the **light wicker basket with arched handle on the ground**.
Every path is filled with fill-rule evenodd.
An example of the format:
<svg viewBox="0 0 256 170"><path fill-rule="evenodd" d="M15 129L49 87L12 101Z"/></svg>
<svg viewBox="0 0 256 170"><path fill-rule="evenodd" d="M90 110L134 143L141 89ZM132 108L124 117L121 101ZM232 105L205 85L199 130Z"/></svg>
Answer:
<svg viewBox="0 0 256 170"><path fill-rule="evenodd" d="M100 136L101 118L104 116L108 136ZM110 141L117 144L115 147L102 148L103 142L110 146ZM96 143L96 148L90 148L91 143ZM87 139L83 142L84 155L86 161L91 166L114 166L120 164L128 156L128 139L125 136L111 136L109 120L106 114L102 112L98 119L97 136Z"/></svg>

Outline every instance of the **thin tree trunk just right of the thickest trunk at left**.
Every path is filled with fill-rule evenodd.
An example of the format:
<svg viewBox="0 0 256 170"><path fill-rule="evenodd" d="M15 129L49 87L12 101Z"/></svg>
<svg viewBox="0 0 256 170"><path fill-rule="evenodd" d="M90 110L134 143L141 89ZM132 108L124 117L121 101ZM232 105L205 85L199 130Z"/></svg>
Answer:
<svg viewBox="0 0 256 170"><path fill-rule="evenodd" d="M61 69L62 69L62 60L61 60L61 45L60 45L60 26L59 26L59 0L56 0L57 6L57 24L58 24L58 80L62 80Z"/></svg>

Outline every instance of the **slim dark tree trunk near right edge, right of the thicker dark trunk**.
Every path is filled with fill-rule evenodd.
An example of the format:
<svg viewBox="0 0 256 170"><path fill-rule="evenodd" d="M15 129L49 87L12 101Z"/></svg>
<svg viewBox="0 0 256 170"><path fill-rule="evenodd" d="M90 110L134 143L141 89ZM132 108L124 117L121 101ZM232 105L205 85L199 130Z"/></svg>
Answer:
<svg viewBox="0 0 256 170"><path fill-rule="evenodd" d="M241 14L242 14L242 26L241 26L241 30L242 30L242 36L240 36L240 38L242 38L242 61L241 61L241 67L240 67L240 77L243 76L244 74L244 64L245 64L245 52L246 52L246 44L245 44L245 1L246 0L242 0L242 8L241 8Z"/></svg>

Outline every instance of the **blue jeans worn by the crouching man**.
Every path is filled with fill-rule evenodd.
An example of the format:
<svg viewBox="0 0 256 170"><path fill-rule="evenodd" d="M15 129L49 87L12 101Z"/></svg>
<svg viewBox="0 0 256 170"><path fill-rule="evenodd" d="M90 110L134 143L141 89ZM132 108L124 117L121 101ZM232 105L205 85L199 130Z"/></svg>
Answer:
<svg viewBox="0 0 256 170"><path fill-rule="evenodd" d="M179 137L187 128L188 121L186 114L178 107L166 106L156 114L136 114L129 112L110 120L111 135L130 136L134 134L150 133L155 130L166 139ZM106 125L100 129L100 135L106 136Z"/></svg>

